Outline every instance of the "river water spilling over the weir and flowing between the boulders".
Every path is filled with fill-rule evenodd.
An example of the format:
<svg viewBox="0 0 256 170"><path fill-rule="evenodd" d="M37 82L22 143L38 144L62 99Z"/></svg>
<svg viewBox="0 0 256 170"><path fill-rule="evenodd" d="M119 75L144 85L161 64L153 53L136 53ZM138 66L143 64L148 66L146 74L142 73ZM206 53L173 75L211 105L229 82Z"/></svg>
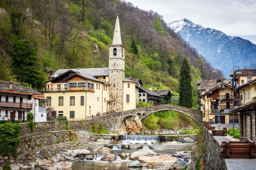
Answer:
<svg viewBox="0 0 256 170"><path fill-rule="evenodd" d="M142 170L146 169L146 167L127 167L126 165L128 163L131 163L132 161L129 160L129 157L126 158L126 160L121 160L121 158L117 154L121 153L133 153L135 151L139 151L139 149L122 149L122 145L143 145L142 149L149 148L149 145L152 145L152 143L158 142L158 135L150 135L150 136L130 136L130 135L124 135L123 140L118 143L117 145L114 145L111 149L111 152L97 152L97 151L91 151L90 154L86 154L87 156L92 156L93 160L87 160L83 159L82 162L76 162L75 160L64 160L72 162L72 168L65 168L64 170ZM156 152L158 154L175 154L175 152L179 152L181 150L152 150L153 152ZM120 159L122 161L122 164L114 164L111 161L107 164L99 164L95 161L101 160L104 154L111 153L116 154L117 159ZM148 169L151 169L148 167ZM43 170L43 168L35 167L35 168L29 168L28 170Z"/></svg>

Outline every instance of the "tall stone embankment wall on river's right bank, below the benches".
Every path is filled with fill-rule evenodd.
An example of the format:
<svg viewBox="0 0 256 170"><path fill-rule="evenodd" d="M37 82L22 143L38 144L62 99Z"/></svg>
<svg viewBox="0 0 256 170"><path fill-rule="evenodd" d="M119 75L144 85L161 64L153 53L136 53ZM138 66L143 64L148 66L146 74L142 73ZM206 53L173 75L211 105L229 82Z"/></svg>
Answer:
<svg viewBox="0 0 256 170"><path fill-rule="evenodd" d="M205 153L203 155L203 160L207 170L218 169L226 170L226 162L224 158L219 158L220 145L219 142L215 140L214 137L203 127L203 137L204 137L204 148Z"/></svg>

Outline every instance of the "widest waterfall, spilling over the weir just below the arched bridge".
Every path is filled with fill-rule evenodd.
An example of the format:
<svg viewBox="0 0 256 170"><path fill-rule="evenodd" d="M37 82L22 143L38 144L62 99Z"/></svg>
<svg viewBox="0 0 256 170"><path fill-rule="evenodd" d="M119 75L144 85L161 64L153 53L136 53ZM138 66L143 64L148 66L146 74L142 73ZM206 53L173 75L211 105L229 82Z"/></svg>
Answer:
<svg viewBox="0 0 256 170"><path fill-rule="evenodd" d="M147 143L152 144L158 141L158 135L123 135L122 144L125 143Z"/></svg>

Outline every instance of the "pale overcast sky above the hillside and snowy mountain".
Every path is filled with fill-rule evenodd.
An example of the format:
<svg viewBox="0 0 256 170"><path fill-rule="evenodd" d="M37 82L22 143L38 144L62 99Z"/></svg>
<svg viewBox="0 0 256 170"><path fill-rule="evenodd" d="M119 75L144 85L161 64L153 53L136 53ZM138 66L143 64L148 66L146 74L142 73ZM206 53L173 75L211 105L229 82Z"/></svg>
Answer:
<svg viewBox="0 0 256 170"><path fill-rule="evenodd" d="M123 1L123 0L122 0ZM152 10L166 23L186 18L256 44L256 0L125 0Z"/></svg>

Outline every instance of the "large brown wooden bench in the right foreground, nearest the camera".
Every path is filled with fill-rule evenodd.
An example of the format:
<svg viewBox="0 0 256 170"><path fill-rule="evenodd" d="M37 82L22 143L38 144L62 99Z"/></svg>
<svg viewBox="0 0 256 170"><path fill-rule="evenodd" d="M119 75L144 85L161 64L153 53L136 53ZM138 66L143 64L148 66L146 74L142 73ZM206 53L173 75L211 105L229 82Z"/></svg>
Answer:
<svg viewBox="0 0 256 170"><path fill-rule="evenodd" d="M256 158L256 144L254 141L223 141L221 143L220 158Z"/></svg>

